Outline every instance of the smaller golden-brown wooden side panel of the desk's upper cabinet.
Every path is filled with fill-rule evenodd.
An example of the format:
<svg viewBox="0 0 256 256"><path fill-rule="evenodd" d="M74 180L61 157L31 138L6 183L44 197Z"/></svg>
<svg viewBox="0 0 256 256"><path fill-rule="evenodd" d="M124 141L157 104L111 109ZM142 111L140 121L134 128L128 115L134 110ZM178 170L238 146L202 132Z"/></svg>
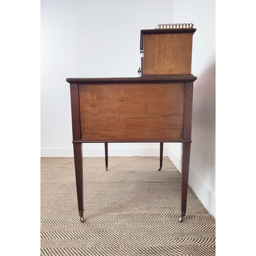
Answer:
<svg viewBox="0 0 256 256"><path fill-rule="evenodd" d="M143 75L191 74L193 34L145 34Z"/></svg>

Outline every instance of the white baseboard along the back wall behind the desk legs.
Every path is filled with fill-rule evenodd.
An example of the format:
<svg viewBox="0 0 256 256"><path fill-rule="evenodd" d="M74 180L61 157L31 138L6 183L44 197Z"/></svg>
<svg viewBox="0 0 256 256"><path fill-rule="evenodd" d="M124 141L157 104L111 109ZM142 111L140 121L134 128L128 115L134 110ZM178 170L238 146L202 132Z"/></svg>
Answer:
<svg viewBox="0 0 256 256"><path fill-rule="evenodd" d="M96 144L96 143L95 143ZM141 143L143 144L143 143ZM145 143L146 144L146 143ZM152 143L153 144L153 143ZM168 143L163 148L163 156L168 156ZM96 145L95 147L83 147L83 157L104 157L105 151L103 145ZM160 156L160 145L142 145L138 147L135 145L120 145L114 147L109 145L109 157L129 157L129 156ZM41 157L74 157L73 148L41 148Z"/></svg>

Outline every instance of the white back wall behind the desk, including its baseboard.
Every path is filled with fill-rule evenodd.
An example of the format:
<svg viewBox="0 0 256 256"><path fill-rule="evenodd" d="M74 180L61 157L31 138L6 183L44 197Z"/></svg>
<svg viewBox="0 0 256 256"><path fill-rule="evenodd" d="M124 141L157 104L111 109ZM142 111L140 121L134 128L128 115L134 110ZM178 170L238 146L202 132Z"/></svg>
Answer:
<svg viewBox="0 0 256 256"><path fill-rule="evenodd" d="M173 0L41 0L42 157L73 156L66 78L137 77L140 30L173 23L173 5ZM159 143L110 143L109 147L110 156L159 155ZM84 156L103 156L101 143L83 148Z"/></svg>

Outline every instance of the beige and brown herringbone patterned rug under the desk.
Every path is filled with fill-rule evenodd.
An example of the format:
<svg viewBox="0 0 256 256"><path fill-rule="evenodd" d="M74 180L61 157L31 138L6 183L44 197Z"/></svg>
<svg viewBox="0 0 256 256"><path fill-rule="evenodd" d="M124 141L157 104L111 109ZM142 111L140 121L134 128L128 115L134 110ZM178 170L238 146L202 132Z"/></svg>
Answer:
<svg viewBox="0 0 256 256"><path fill-rule="evenodd" d="M164 157L83 159L84 219L78 216L73 158L41 159L41 255L215 255L215 218Z"/></svg>

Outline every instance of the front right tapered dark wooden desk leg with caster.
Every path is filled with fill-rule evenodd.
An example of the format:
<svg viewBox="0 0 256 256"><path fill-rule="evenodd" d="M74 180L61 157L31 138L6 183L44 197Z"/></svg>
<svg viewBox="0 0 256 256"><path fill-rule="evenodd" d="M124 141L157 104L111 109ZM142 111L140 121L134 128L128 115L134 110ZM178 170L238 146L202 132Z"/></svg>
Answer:
<svg viewBox="0 0 256 256"><path fill-rule="evenodd" d="M179 218L179 222L182 222L182 219L186 215L190 144L190 142L184 142L182 146L181 216Z"/></svg>

